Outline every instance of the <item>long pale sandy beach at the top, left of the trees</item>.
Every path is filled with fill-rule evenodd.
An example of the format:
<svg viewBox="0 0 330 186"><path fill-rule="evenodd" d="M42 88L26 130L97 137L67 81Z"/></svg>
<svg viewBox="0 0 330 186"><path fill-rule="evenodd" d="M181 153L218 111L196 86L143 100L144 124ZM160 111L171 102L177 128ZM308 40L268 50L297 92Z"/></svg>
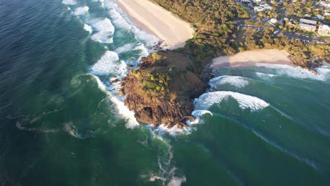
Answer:
<svg viewBox="0 0 330 186"><path fill-rule="evenodd" d="M149 0L117 0L130 20L146 32L156 35L164 49L177 49L193 37L193 27Z"/></svg>

